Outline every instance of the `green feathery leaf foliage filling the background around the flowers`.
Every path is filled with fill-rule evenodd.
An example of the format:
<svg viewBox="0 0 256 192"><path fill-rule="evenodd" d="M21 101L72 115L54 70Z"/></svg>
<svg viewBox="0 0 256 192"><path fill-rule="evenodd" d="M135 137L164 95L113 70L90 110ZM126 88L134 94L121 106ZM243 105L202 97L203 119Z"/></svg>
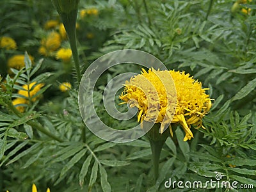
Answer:
<svg viewBox="0 0 256 192"><path fill-rule="evenodd" d="M191 129L194 138L184 142L182 128L177 127L176 137L168 138L163 147L159 178L154 184L147 138L116 144L94 136L79 113L79 83L72 60L56 60L56 51L47 56L38 53L42 39L59 30L44 29L47 20L60 22L51 1L1 1L0 35L11 36L18 47L0 49L1 191L29 191L33 183L40 191L47 187L67 192L166 191L170 189L164 183L169 178L207 182L216 180L217 173L222 180L255 188L256 7L255 2L248 2L231 12L233 3L81 1L79 14L91 8L99 12L84 19L77 17L82 72L102 54L139 49L159 58L167 68L189 72L210 88L213 105L203 119L205 129ZM242 8L250 8L250 13L241 12ZM69 47L67 39L61 47ZM8 67L8 59L15 54L24 54L24 67ZM102 107L102 93L108 81L124 72L140 72L140 67L129 64L110 68L97 82L93 95L97 114L105 124L117 129L137 122L109 117ZM64 81L72 84L68 92L58 90ZM33 82L33 88L40 83L44 86L31 97L18 93L24 91L22 86ZM15 98L26 98L28 102L13 106ZM117 97L116 103L120 103ZM118 109L125 111L126 107ZM222 190L212 186L195 189Z"/></svg>

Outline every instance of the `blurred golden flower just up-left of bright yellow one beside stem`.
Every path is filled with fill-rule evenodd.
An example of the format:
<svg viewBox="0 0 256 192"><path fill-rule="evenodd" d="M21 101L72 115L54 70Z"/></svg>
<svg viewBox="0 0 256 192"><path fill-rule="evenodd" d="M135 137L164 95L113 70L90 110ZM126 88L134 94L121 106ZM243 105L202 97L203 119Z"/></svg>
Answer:
<svg viewBox="0 0 256 192"><path fill-rule="evenodd" d="M53 31L46 39L42 40L41 44L49 52L56 51L60 47L61 36L59 33Z"/></svg>

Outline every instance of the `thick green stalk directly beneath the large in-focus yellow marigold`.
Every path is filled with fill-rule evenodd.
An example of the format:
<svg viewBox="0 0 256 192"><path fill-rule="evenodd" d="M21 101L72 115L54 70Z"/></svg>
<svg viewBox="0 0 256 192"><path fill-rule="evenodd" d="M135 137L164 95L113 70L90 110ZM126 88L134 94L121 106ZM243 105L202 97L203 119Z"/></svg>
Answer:
<svg viewBox="0 0 256 192"><path fill-rule="evenodd" d="M169 129L163 132L163 134L159 133L159 128L161 124L155 124L150 131L147 132L146 136L150 142L151 152L152 152L152 164L154 171L154 182L156 182L159 175L159 159L161 155L161 150L166 139L170 136Z"/></svg>

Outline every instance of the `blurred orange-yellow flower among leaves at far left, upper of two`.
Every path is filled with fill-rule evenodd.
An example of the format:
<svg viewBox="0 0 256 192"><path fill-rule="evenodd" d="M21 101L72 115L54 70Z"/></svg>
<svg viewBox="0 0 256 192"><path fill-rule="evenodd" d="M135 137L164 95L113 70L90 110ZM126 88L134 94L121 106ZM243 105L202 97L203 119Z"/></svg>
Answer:
<svg viewBox="0 0 256 192"><path fill-rule="evenodd" d="M44 86L43 83L39 83L39 84L36 84L36 85L35 84L36 84L36 82L30 83L29 85L28 84L24 84L22 86L22 88L24 88L24 90L19 90L18 94L23 95L24 97L27 97L27 98L29 98L29 97L32 98ZM38 98L38 96L34 97L32 99L32 101L35 101L37 98Z"/></svg>

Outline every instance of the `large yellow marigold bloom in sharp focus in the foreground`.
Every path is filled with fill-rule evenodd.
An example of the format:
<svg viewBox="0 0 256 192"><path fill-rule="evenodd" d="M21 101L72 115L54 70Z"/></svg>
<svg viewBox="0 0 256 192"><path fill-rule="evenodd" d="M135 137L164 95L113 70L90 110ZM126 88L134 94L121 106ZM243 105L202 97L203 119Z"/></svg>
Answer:
<svg viewBox="0 0 256 192"><path fill-rule="evenodd" d="M166 74L166 72L170 73L175 84L177 92L176 108L173 107L172 104L168 105L168 97L173 96L166 95L168 89L166 89L161 82L164 77L168 77L169 74ZM154 86L157 91L157 95L154 97L158 97L159 99L152 99L152 103L155 106L159 106L159 111L157 111L156 108L148 111L147 96L156 93L150 92L150 89L152 88L148 88L146 92L145 90L143 92L140 88L141 86ZM170 122L164 120L164 116L171 116L168 113L172 111L172 108L175 109L172 123L179 123L182 125L182 128L186 133L184 141L187 141L193 138L193 133L190 130L191 125L195 125L196 129L200 127L204 128L202 125L202 118L211 108L211 99L209 98L209 95L205 93L205 90L207 89L202 88L202 83L195 81L193 77L189 77L189 74L185 74L185 72L175 72L174 70L160 71L150 68L148 72L143 70L140 75L134 76L130 81L125 82L125 90L120 95L120 99L125 101L123 103L129 103L130 107L136 106L139 109L138 121L141 122L143 122L143 120L150 121L151 118L158 113L156 123L168 124ZM152 95L150 95L149 98L153 98ZM146 116L148 116L147 119L145 118ZM173 134L171 126L170 133Z"/></svg>

